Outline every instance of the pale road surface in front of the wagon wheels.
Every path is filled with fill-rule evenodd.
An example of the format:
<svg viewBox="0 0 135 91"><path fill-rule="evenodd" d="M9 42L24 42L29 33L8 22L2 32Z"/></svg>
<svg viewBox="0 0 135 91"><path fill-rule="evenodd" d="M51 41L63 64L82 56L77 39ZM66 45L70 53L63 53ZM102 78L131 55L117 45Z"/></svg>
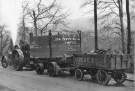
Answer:
<svg viewBox="0 0 135 91"><path fill-rule="evenodd" d="M13 71L0 68L0 91L134 91L133 82L126 81L122 86L116 86L112 80L109 86L102 86L88 76L84 81L77 81L74 77L49 77L37 75L34 71Z"/></svg>

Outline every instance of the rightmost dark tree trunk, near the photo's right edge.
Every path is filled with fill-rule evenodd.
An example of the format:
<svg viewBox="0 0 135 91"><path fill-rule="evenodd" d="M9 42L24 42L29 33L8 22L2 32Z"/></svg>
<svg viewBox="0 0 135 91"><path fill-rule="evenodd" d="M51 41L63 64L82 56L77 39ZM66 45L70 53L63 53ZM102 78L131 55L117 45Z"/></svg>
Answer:
<svg viewBox="0 0 135 91"><path fill-rule="evenodd" d="M130 29L130 13L129 13L129 0L126 0L126 12L127 12L127 53L131 51L131 29Z"/></svg>

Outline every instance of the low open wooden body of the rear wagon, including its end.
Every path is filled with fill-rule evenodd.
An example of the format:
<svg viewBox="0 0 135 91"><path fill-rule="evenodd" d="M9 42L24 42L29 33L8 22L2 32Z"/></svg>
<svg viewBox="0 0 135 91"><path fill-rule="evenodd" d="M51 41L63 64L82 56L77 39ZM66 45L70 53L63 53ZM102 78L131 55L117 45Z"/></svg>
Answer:
<svg viewBox="0 0 135 91"><path fill-rule="evenodd" d="M129 55L115 54L75 54L74 66L106 70L126 70L129 68Z"/></svg>

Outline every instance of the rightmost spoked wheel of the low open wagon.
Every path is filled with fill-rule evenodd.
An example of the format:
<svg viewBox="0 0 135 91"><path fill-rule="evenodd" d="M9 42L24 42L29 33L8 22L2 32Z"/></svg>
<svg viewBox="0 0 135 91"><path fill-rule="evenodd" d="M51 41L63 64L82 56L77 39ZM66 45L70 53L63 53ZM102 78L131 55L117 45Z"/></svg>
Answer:
<svg viewBox="0 0 135 91"><path fill-rule="evenodd" d="M117 82L117 84L122 84L127 78L127 75L123 72L114 72L113 79Z"/></svg>

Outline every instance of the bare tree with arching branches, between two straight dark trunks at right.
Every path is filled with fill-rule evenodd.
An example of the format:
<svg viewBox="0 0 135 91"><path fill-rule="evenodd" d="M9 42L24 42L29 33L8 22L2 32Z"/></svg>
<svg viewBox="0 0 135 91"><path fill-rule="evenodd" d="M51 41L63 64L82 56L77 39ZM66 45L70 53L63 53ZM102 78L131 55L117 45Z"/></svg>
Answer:
<svg viewBox="0 0 135 91"><path fill-rule="evenodd" d="M93 5L93 0L87 0L82 6ZM98 23L100 30L118 34L121 37L121 46L125 52L124 26L123 26L123 6L122 0L98 0ZM120 21L118 21L118 18ZM108 33L105 33L108 34Z"/></svg>

